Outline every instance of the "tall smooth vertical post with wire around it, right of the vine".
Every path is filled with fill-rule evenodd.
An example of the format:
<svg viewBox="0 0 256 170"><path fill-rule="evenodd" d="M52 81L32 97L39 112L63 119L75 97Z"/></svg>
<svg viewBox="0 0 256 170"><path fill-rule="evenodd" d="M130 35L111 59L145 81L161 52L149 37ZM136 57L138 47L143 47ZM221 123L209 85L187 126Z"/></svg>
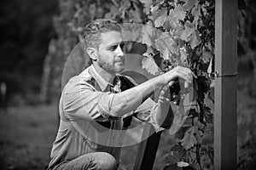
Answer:
<svg viewBox="0 0 256 170"><path fill-rule="evenodd" d="M214 169L236 169L237 0L215 2Z"/></svg>

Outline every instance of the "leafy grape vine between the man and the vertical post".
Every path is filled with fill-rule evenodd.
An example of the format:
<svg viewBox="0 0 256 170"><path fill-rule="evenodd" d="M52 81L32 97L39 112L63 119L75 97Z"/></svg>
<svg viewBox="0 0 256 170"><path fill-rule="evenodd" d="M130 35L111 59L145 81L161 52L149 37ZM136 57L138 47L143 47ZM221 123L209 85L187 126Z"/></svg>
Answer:
<svg viewBox="0 0 256 170"><path fill-rule="evenodd" d="M180 87L171 88L171 99L179 105L177 120L174 119L171 133L175 133L177 144L166 155L165 169L175 169L180 162L193 169L213 165L213 148L205 144L204 136L212 126L213 114L205 99L213 81L214 59L214 4L212 0L140 0L144 4L145 19L143 40L149 44L143 59L143 68L155 75L170 71L177 65L189 67L198 77L194 80L194 106L184 109ZM161 31L158 36L148 30ZM154 47L154 48L152 48ZM157 56L161 65L155 62ZM183 93L189 93L183 92ZM178 96L178 98L176 98ZM212 99L212 98L211 98ZM181 121L183 119L183 121ZM204 157L205 159L202 159ZM210 164L210 165L209 165Z"/></svg>

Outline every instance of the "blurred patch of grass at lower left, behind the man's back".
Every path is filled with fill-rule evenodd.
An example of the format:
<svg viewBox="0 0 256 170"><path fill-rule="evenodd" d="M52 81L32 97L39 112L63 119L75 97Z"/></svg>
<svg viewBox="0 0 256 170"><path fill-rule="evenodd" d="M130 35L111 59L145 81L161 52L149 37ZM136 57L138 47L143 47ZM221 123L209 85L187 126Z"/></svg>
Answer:
<svg viewBox="0 0 256 170"><path fill-rule="evenodd" d="M55 105L14 108L0 116L0 169L45 169L57 130Z"/></svg>

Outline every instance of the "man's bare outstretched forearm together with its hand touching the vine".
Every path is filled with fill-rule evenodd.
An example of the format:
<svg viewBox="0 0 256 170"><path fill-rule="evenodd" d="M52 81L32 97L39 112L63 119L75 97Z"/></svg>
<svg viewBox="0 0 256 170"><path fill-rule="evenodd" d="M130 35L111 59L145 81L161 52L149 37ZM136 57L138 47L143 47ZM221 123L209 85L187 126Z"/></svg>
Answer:
<svg viewBox="0 0 256 170"><path fill-rule="evenodd" d="M154 90L160 88L162 85L174 81L177 77L183 78L185 81L185 88L189 82L192 82L195 74L188 68L177 66L172 71L168 71L158 77L154 77L147 82L143 82L135 88L130 88L115 94L113 97L112 105L110 105L110 115L123 116L129 111L134 111L139 105L147 99Z"/></svg>

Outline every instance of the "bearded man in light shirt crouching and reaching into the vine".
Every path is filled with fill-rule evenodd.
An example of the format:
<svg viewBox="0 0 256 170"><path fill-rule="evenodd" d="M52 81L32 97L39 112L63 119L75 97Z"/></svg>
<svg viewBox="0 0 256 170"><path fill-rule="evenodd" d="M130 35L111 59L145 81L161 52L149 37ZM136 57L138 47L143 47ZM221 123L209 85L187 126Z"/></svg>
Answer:
<svg viewBox="0 0 256 170"><path fill-rule="evenodd" d="M160 131L172 124L168 87L177 78L192 82L193 73L176 67L137 85L118 73L125 69L121 27L113 20L94 20L84 28L86 52L92 61L67 82L59 105L60 127L49 169L116 169L125 129L137 113ZM155 104L148 98L165 87Z"/></svg>

